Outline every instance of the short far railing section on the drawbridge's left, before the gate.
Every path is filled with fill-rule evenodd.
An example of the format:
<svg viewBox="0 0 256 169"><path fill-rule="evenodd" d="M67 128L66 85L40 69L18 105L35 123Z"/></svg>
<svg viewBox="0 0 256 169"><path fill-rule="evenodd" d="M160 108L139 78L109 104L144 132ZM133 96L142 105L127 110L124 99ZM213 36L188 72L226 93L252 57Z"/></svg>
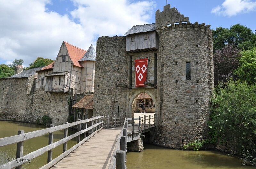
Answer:
<svg viewBox="0 0 256 169"><path fill-rule="evenodd" d="M109 127L120 127L123 126L124 124L124 117L123 114L122 115L107 115L104 116L103 118L104 123L102 124L102 126L104 128L109 128Z"/></svg>

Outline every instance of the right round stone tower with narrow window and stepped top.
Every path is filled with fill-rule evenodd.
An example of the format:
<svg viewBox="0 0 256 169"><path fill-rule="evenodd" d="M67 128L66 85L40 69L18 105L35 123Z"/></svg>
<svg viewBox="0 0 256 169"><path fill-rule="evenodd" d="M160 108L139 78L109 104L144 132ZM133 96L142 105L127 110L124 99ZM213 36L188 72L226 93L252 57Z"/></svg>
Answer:
<svg viewBox="0 0 256 169"><path fill-rule="evenodd" d="M180 148L204 139L214 87L210 25L191 24L177 9L156 11L160 115L155 144Z"/></svg>

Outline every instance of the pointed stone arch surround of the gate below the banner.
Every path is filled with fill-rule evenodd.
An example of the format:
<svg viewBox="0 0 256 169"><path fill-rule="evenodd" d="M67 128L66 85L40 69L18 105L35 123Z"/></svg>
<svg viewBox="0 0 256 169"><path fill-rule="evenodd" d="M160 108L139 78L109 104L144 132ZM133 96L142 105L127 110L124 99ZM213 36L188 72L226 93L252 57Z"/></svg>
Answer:
<svg viewBox="0 0 256 169"><path fill-rule="evenodd" d="M127 107L127 110L126 110L126 114L128 117L132 117L132 102L134 101L134 99L140 94L140 93L147 93L153 100L154 104L155 104L155 114L158 115L158 103L156 102L156 98L155 96L148 90L145 89L138 89L136 90L136 92L132 95L132 97L130 98L129 100L129 103L128 103L128 107ZM157 118L157 117L156 117ZM157 121L156 121L157 122Z"/></svg>

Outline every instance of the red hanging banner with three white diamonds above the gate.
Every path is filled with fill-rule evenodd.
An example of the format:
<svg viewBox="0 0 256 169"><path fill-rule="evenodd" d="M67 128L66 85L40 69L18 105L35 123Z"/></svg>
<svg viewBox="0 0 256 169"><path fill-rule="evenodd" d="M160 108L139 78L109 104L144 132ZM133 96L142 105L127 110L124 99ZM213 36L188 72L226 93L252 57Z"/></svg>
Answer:
<svg viewBox="0 0 256 169"><path fill-rule="evenodd" d="M146 59L136 59L135 63L135 86L145 86L144 82L147 80L147 67L148 58Z"/></svg>

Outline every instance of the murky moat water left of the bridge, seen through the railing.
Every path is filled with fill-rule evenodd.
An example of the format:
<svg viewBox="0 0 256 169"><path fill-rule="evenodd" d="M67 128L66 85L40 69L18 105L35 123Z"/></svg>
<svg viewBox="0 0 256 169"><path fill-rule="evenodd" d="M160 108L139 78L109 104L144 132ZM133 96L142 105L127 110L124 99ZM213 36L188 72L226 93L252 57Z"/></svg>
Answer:
<svg viewBox="0 0 256 169"><path fill-rule="evenodd" d="M44 129L45 126L37 125L37 124L30 124L30 123L23 123L23 122L7 122L7 121L0 121L0 138L9 137L13 135L17 135L18 130L24 130L25 133L41 130ZM74 134L75 132L72 130L68 130L68 135ZM62 139L64 136L64 130L56 131L53 133L53 142L56 142ZM24 141L23 143L23 155L26 155L30 152L36 151L46 145L48 145L48 137L49 134L44 136L32 138L29 140ZM67 149L71 148L77 143L76 138L68 141ZM16 145L17 144L10 144L4 147L0 147L0 165L7 163L8 159L12 159L16 157ZM52 159L59 156L63 151L63 144L59 145L58 147L52 150ZM36 169L40 168L41 166L47 163L47 152L41 156L38 156L30 161L30 163L25 163L22 165L22 169Z"/></svg>

